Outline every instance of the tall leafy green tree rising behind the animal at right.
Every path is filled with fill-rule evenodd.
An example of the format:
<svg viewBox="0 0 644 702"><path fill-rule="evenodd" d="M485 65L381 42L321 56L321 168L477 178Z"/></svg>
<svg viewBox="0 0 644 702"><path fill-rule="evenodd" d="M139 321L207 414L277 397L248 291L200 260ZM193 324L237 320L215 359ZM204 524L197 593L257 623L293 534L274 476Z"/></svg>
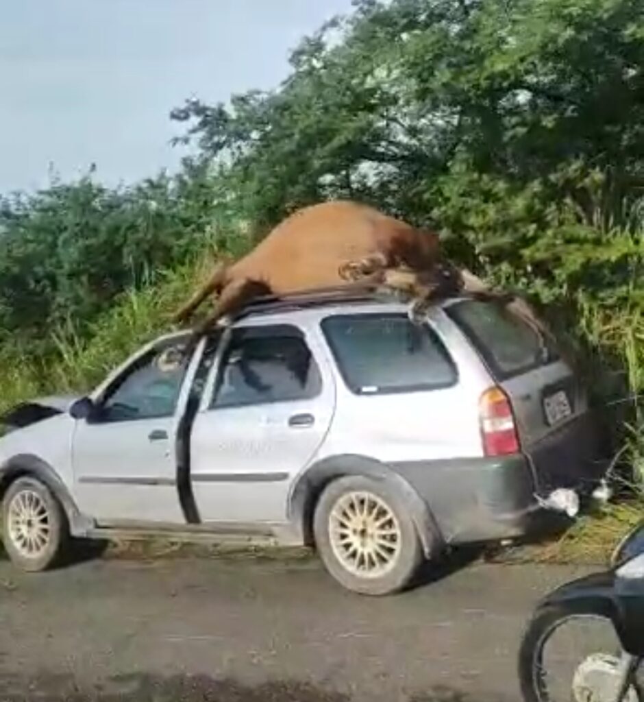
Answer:
<svg viewBox="0 0 644 702"><path fill-rule="evenodd" d="M521 270L553 227L631 224L643 15L640 0L360 0L302 41L276 91L173 117L263 230L362 199L434 222L471 265Z"/></svg>

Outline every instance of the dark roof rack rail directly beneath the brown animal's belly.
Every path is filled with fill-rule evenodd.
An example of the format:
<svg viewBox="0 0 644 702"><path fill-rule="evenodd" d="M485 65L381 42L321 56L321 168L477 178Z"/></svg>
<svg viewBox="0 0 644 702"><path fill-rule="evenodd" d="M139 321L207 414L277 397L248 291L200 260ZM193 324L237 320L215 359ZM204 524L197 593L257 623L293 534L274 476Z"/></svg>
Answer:
<svg viewBox="0 0 644 702"><path fill-rule="evenodd" d="M301 310L304 307L318 307L330 303L360 303L374 300L396 298L393 291L383 290L378 286L339 286L318 288L310 291L288 293L283 296L267 295L255 298L243 307L235 319L246 317L248 314L269 314L283 310Z"/></svg>

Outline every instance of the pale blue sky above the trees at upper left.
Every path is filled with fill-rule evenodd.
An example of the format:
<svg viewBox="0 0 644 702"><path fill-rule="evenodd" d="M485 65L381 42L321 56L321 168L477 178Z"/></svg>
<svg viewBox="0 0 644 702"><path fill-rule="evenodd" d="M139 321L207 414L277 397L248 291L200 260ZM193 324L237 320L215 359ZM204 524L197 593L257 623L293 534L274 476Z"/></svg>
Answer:
<svg viewBox="0 0 644 702"><path fill-rule="evenodd" d="M270 88L288 51L351 0L5 0L0 193L75 178L109 184L176 166L168 113Z"/></svg>

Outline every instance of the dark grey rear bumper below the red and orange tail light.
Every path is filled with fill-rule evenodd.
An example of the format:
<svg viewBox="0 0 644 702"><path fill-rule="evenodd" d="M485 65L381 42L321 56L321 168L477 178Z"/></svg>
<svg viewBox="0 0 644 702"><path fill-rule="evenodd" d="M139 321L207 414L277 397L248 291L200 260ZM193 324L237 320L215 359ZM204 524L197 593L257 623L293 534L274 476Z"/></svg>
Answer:
<svg viewBox="0 0 644 702"><path fill-rule="evenodd" d="M391 467L427 503L446 544L517 538L567 520L542 508L532 465L521 454Z"/></svg>

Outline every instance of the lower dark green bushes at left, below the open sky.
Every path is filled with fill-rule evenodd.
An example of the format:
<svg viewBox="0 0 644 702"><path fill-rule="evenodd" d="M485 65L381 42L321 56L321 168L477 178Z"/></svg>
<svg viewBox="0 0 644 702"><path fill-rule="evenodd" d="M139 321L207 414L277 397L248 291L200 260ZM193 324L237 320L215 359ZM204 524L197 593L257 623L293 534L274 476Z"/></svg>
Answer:
<svg viewBox="0 0 644 702"><path fill-rule="evenodd" d="M114 296L153 282L216 234L225 207L203 168L109 189L88 176L0 201L0 344L47 347ZM213 232L214 227L214 232Z"/></svg>

